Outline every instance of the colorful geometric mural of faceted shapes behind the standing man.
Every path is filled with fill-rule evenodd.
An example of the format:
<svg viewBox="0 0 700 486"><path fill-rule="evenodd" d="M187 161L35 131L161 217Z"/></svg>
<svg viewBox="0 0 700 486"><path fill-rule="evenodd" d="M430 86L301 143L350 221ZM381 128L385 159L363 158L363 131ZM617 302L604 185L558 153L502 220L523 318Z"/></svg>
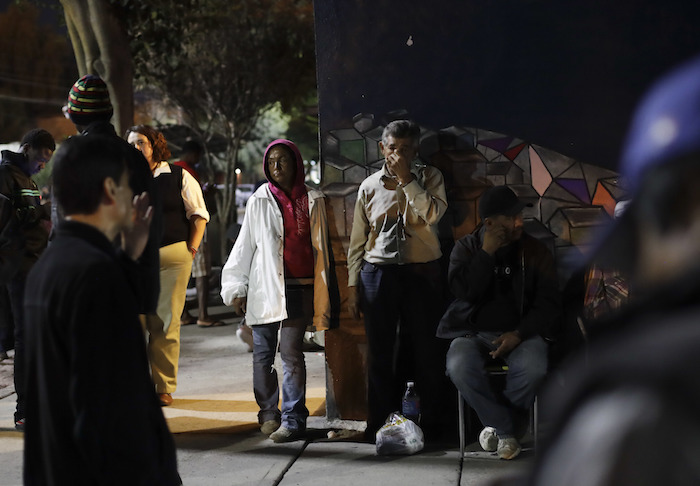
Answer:
<svg viewBox="0 0 700 486"><path fill-rule="evenodd" d="M405 116L393 112L383 120ZM341 238L350 234L357 187L383 163L378 143L384 125L372 114L360 114L352 127L323 136L323 189L336 214L344 215L336 216ZM422 127L420 158L445 176L449 208L440 232L446 248L476 227L477 201L490 186L507 184L533 204L523 212L526 229L547 242L560 262L585 252L596 228L624 198L611 170L479 128Z"/></svg>

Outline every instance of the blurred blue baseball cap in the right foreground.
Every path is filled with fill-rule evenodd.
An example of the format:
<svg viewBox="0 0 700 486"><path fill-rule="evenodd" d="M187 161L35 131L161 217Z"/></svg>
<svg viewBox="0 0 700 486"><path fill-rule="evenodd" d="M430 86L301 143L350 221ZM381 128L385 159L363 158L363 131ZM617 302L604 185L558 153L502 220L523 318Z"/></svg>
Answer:
<svg viewBox="0 0 700 486"><path fill-rule="evenodd" d="M635 202L651 168L700 153L700 56L663 76L639 103L624 143L620 175L632 199L629 208L598 240L592 260L634 270L637 255Z"/></svg>

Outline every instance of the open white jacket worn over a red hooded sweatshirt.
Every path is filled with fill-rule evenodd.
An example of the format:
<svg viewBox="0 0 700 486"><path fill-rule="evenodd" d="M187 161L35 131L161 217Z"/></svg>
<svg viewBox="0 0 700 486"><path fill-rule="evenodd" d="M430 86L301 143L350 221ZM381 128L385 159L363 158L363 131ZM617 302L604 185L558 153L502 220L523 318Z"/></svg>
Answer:
<svg viewBox="0 0 700 486"><path fill-rule="evenodd" d="M325 330L331 315L328 218L323 193L307 189L314 251L313 325L316 330ZM287 318L283 255L282 212L268 185L263 184L246 203L241 231L221 272L224 304L247 296L246 324L269 324Z"/></svg>

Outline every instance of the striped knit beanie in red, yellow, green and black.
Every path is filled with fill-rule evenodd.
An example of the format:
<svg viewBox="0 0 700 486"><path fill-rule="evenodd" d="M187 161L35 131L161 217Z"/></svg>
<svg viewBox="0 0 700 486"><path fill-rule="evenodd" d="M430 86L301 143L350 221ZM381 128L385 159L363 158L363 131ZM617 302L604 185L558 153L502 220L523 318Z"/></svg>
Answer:
<svg viewBox="0 0 700 486"><path fill-rule="evenodd" d="M68 93L68 116L76 125L89 125L112 118L109 91L102 78L87 74L77 80Z"/></svg>

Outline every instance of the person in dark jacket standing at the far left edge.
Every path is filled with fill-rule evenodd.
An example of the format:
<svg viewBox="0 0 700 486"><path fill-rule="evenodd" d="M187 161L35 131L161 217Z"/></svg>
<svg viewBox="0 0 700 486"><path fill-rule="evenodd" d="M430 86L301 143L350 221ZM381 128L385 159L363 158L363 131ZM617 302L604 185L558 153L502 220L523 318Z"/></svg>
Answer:
<svg viewBox="0 0 700 486"><path fill-rule="evenodd" d="M24 287L27 274L46 248L49 212L32 176L41 171L56 144L46 130L22 137L19 153L2 151L0 163L0 285L7 292L14 321L14 380L17 392L15 427L24 428Z"/></svg>

